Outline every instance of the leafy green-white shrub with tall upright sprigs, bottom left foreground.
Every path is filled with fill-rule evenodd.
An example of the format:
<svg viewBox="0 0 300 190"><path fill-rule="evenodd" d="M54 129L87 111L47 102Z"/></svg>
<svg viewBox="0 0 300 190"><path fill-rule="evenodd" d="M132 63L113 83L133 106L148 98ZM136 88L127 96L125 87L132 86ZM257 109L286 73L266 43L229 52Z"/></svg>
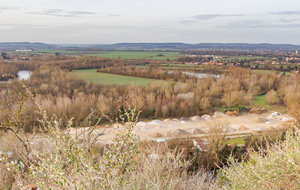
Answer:
<svg viewBox="0 0 300 190"><path fill-rule="evenodd" d="M43 113L44 114L44 113ZM128 121L118 128L114 145L102 157L90 153L90 148L100 134L93 134L95 126L90 126L78 135L71 135L71 121L66 130L61 130L59 121L47 121L44 115L43 129L47 131L52 151L37 150L30 143L31 157L20 153L20 162L8 162L15 179L24 186L24 179L39 187L51 189L120 189L129 181L128 173L134 169L133 157L138 154L138 138L133 135L133 123L137 117L134 110L122 115Z"/></svg>

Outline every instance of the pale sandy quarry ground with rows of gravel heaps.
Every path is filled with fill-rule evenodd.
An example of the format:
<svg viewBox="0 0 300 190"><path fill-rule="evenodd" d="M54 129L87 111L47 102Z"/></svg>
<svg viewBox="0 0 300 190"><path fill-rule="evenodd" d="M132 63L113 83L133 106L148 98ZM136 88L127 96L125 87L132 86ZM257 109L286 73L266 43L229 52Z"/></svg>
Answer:
<svg viewBox="0 0 300 190"><path fill-rule="evenodd" d="M267 130L282 130L286 128L292 118L277 112L264 114L244 114L238 117L230 117L224 113L216 112L214 116L203 115L190 118L152 120L150 122L140 121L134 128L134 133L140 136L141 140L161 140L175 137L204 137L208 132L208 124L215 121L227 121L229 126L226 129L228 134L243 134L263 132ZM93 134L103 132L104 135L98 138L99 143L112 143L116 129L113 127L99 126ZM72 129L71 133L76 134L82 129Z"/></svg>

